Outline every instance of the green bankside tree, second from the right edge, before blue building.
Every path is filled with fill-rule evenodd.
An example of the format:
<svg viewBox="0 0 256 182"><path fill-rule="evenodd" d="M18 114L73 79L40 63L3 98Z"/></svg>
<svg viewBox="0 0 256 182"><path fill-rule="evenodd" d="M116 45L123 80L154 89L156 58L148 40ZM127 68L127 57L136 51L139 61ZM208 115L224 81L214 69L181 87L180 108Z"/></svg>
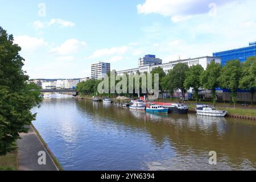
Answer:
<svg viewBox="0 0 256 182"><path fill-rule="evenodd" d="M241 63L239 60L228 61L228 63L221 69L218 81L220 86L231 90L232 102L236 107L237 89L239 88L239 80L241 77Z"/></svg>

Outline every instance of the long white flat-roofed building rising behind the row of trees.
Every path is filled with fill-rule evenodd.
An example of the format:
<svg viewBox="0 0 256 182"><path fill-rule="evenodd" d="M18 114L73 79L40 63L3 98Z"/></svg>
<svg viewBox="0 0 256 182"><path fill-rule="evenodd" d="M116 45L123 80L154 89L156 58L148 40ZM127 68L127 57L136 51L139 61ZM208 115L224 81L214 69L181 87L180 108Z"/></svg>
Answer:
<svg viewBox="0 0 256 182"><path fill-rule="evenodd" d="M139 72L139 73L144 73L144 72L150 73L153 69L155 69L157 67L163 68L163 71L168 73L168 71L173 69L174 66L178 63L185 63L189 67L191 67L192 65L200 64L204 69L206 69L207 65L210 64L210 62L213 61L213 60L216 63L221 64L220 57L204 56L204 57L196 57L196 58L193 58L193 59L190 58L190 59L184 59L184 60L170 61L169 63L159 64L159 65L152 65L152 64L142 65L139 68L126 69L126 70L123 70L123 71L118 71L117 74L118 75L123 75L124 73L131 74L131 73L137 73L137 72Z"/></svg>

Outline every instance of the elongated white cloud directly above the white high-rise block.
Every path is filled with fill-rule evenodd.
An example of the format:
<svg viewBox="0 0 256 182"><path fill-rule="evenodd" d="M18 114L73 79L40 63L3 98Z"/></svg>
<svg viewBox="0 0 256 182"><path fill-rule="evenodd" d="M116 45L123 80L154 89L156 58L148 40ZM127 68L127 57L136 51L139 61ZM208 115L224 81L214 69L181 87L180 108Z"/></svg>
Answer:
<svg viewBox="0 0 256 182"><path fill-rule="evenodd" d="M127 52L128 48L129 47L127 46L121 46L121 47L98 49L97 51L93 52L93 55L89 56L89 59L105 57L105 56L110 56L114 54L122 55Z"/></svg>

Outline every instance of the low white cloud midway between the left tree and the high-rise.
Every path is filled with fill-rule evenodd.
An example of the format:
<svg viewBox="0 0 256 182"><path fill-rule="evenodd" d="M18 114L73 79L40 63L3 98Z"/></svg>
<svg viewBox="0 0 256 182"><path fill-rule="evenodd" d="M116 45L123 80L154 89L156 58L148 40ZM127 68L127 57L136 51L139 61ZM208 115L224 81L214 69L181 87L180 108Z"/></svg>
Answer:
<svg viewBox="0 0 256 182"><path fill-rule="evenodd" d="M50 53L56 53L58 55L70 55L73 53L77 53L80 49L86 47L87 44L85 42L80 42L76 39L66 40L60 46L49 49Z"/></svg>

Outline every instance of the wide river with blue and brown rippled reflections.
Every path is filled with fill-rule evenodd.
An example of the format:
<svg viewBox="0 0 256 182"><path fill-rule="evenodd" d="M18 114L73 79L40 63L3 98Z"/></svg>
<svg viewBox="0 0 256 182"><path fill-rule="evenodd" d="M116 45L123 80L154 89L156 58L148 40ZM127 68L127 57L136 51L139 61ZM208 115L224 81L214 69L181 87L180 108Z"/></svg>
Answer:
<svg viewBox="0 0 256 182"><path fill-rule="evenodd" d="M256 123L234 118L150 114L53 95L34 125L66 170L250 170ZM208 164L209 151L217 165Z"/></svg>

